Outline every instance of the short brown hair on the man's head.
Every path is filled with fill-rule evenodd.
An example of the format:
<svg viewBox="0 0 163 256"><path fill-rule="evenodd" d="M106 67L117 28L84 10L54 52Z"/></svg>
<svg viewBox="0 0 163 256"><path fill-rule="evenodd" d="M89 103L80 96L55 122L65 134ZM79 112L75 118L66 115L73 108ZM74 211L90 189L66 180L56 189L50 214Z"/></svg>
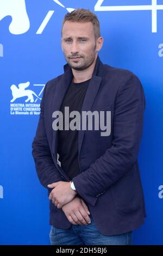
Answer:
<svg viewBox="0 0 163 256"><path fill-rule="evenodd" d="M62 21L62 28L66 21L72 22L91 22L95 32L95 39L101 36L100 24L97 16L89 9L75 9L71 13L67 13ZM62 31L62 29L61 29Z"/></svg>

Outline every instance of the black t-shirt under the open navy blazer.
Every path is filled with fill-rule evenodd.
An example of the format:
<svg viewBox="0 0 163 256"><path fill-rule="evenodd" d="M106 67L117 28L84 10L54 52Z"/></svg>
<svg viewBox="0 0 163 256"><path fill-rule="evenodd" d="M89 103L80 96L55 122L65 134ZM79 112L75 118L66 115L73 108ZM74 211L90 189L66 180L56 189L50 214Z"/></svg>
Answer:
<svg viewBox="0 0 163 256"><path fill-rule="evenodd" d="M64 120L65 107L69 107L69 113L72 111L81 113L89 82L90 80L82 83L71 82L60 108ZM72 119L74 117L69 118L69 121L71 122ZM58 131L58 160L61 162L61 168L72 180L72 178L80 173L78 164L78 130L72 131L69 125L70 123L68 123L69 130L65 130L65 121L63 124L63 130Z"/></svg>

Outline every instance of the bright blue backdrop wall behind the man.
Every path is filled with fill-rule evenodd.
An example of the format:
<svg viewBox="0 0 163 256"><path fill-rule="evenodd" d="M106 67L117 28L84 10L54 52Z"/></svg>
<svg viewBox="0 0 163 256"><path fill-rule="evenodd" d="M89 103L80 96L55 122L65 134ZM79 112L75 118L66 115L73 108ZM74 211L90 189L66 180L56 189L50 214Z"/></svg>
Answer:
<svg viewBox="0 0 163 256"><path fill-rule="evenodd" d="M37 178L31 144L45 83L65 64L61 20L73 8L101 22L103 63L133 71L146 95L139 154L147 218L135 245L162 245L163 1L0 0L0 244L48 245L47 191Z"/></svg>

